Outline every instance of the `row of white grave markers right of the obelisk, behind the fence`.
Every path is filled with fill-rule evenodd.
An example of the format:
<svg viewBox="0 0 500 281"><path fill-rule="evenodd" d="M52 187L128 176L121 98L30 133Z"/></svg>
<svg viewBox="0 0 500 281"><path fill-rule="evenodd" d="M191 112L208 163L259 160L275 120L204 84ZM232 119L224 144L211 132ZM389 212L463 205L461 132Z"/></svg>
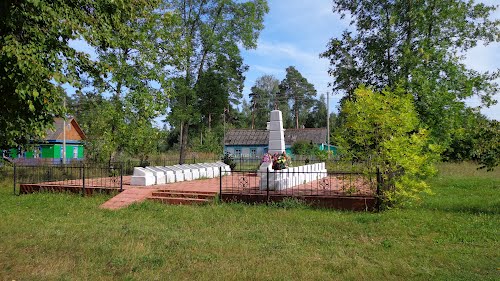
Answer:
<svg viewBox="0 0 500 281"><path fill-rule="evenodd" d="M269 169L269 173L267 173ZM267 179L269 175L269 181ZM283 170L273 170L271 163L263 163L259 169L260 190L283 190L327 177L325 163L308 164ZM268 187L269 182L269 187Z"/></svg>

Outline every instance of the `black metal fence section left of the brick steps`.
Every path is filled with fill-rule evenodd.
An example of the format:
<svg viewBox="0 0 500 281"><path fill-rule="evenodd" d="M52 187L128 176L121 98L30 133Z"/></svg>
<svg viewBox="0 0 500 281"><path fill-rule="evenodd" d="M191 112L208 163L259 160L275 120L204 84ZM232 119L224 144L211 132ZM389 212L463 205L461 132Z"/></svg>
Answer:
<svg viewBox="0 0 500 281"><path fill-rule="evenodd" d="M17 165L12 168L14 194L33 191L123 190L121 164Z"/></svg>

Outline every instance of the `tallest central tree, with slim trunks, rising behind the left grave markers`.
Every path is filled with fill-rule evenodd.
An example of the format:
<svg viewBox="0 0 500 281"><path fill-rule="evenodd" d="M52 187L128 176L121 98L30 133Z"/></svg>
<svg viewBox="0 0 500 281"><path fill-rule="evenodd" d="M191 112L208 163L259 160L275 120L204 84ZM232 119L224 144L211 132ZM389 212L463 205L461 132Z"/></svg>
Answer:
<svg viewBox="0 0 500 281"><path fill-rule="evenodd" d="M173 70L175 91L171 100L169 122L180 128L179 162L184 163L189 127L199 120L196 114L196 85L209 68L223 73L229 92L241 94L246 66L239 46L254 48L268 11L265 0L171 0L164 9L178 17L179 25L171 28L177 40L165 42L167 49L174 45ZM236 99L231 98L235 101ZM229 106L228 106L229 107Z"/></svg>

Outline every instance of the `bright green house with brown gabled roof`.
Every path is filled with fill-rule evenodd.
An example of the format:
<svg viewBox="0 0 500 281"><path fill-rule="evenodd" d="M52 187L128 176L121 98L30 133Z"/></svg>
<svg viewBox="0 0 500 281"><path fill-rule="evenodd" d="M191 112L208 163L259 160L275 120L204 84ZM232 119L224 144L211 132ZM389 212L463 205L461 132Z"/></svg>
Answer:
<svg viewBox="0 0 500 281"><path fill-rule="evenodd" d="M33 159L32 161L45 161L52 163L63 162L64 148L66 143L66 162L84 159L85 134L74 118L64 121L62 118L54 120L54 130L46 133L43 142L35 143L27 150L16 148L10 149L4 156L11 159ZM7 155L5 155L7 154ZM46 160L40 160L46 159Z"/></svg>

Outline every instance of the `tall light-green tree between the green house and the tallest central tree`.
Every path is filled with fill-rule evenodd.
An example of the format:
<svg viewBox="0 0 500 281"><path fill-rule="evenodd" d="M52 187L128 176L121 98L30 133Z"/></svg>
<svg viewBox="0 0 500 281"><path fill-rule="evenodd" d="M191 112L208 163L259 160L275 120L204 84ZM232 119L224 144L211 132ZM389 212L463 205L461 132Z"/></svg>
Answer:
<svg viewBox="0 0 500 281"><path fill-rule="evenodd" d="M142 159L150 152L156 130L154 118L165 110L169 88L158 58L165 59L156 42L172 39L168 30L172 15L158 13L159 1L133 2L137 6L112 17L109 26L96 28L88 41L96 46L102 71L89 77L92 92L111 95L108 114L114 118L100 128L110 132L107 145L115 154L129 151ZM139 6L140 5L140 6ZM141 135L144 133L144 135ZM147 138L138 137L148 136ZM104 137L104 135L103 135Z"/></svg>

